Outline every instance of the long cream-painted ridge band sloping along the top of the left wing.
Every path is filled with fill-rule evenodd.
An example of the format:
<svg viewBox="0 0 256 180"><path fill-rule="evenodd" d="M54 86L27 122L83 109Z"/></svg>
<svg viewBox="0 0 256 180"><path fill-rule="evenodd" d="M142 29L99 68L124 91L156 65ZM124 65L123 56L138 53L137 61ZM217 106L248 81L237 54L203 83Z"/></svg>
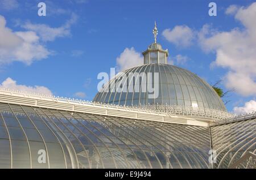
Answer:
<svg viewBox="0 0 256 180"><path fill-rule="evenodd" d="M29 93L0 90L0 102L34 106L40 108L50 108L67 110L71 112L81 112L90 114L109 115L113 117L123 117L140 119L145 121L180 123L185 125L209 126L212 119L204 116L207 121L197 120L195 117L185 116L185 113L168 114L168 112L154 112L150 109L124 107L115 105L100 104L82 100L71 100L53 96L31 95ZM178 111L177 111L178 112ZM200 115L200 114L199 114Z"/></svg>

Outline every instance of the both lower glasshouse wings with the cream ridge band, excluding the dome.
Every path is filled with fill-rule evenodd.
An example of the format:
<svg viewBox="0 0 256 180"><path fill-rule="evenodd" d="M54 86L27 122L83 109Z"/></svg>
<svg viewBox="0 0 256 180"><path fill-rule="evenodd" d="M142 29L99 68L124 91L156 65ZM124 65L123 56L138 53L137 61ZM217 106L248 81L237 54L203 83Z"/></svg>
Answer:
<svg viewBox="0 0 256 180"><path fill-rule="evenodd" d="M254 167L254 116L210 123L166 109L0 91L0 167ZM217 152L215 164L208 161L210 149ZM38 163L42 150L46 164Z"/></svg>

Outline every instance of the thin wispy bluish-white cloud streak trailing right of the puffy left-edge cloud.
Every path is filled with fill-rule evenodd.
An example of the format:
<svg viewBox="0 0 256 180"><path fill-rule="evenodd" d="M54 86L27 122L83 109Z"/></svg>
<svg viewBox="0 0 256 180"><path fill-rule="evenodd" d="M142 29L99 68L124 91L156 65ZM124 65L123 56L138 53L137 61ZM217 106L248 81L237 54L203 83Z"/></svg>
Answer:
<svg viewBox="0 0 256 180"><path fill-rule="evenodd" d="M71 36L71 25L76 23L77 15L72 14L71 19L69 19L65 24L61 25L61 27L52 28L46 24L32 24L32 23L25 23L22 25L24 29L29 31L36 32L42 41L54 41L56 37L65 37Z"/></svg>

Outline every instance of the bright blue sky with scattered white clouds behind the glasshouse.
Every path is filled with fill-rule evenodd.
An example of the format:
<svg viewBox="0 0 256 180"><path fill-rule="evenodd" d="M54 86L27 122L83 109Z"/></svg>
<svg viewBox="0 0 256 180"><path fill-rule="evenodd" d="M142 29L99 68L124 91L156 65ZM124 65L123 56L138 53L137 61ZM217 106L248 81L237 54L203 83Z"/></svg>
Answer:
<svg viewBox="0 0 256 180"><path fill-rule="evenodd" d="M38 3L46 16L38 16ZM209 16L209 2L217 16ZM256 110L256 2L0 0L0 88L92 100L97 75L142 63L154 41L168 62L209 84L222 80L230 112Z"/></svg>

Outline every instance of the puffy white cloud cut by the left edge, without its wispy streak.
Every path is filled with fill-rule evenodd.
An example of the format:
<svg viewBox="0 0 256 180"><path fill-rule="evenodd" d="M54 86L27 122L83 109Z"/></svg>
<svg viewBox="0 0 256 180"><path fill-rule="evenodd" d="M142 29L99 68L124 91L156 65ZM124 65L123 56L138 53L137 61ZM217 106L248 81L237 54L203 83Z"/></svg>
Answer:
<svg viewBox="0 0 256 180"><path fill-rule="evenodd" d="M13 32L0 15L0 64L20 61L30 65L34 60L47 58L50 52L40 44L35 32Z"/></svg>

